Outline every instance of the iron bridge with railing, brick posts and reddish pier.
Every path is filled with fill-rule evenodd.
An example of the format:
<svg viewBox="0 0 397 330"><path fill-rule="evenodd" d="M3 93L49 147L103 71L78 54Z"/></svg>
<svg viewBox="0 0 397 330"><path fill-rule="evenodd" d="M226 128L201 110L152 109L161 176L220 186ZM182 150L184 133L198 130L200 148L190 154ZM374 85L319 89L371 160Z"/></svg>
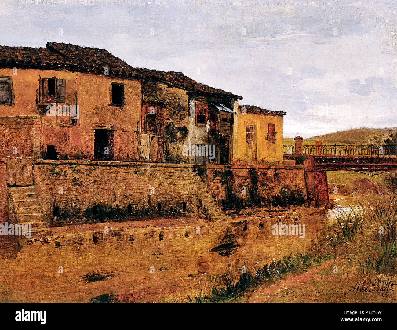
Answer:
<svg viewBox="0 0 397 330"><path fill-rule="evenodd" d="M308 205L330 203L326 171L355 171L374 175L397 169L395 145L323 145L303 146L303 138L295 145L284 145L285 164L303 164ZM367 173L366 173L367 174Z"/></svg>

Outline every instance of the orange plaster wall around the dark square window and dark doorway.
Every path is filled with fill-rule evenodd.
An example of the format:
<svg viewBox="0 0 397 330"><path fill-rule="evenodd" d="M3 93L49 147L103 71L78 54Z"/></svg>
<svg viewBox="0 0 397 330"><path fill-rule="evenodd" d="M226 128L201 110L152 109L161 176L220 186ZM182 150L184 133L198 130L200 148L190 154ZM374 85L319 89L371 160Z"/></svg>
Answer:
<svg viewBox="0 0 397 330"><path fill-rule="evenodd" d="M110 105L111 82L124 84L123 107ZM140 81L78 73L77 104L80 105L80 119L77 126L70 130L75 158L93 159L94 129L113 129L114 159L128 161L139 159Z"/></svg>

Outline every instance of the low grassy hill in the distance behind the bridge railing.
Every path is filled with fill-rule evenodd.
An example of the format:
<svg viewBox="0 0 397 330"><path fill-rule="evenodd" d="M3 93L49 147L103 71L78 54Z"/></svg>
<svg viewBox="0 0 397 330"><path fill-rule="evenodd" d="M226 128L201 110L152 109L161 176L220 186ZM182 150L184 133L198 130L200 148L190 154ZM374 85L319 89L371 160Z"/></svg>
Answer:
<svg viewBox="0 0 397 330"><path fill-rule="evenodd" d="M381 129L362 128L349 129L341 132L312 136L303 140L303 144L314 144L318 139L323 144L384 144L390 134L396 133L397 127L384 127ZM284 138L283 144L294 144L293 138Z"/></svg>

